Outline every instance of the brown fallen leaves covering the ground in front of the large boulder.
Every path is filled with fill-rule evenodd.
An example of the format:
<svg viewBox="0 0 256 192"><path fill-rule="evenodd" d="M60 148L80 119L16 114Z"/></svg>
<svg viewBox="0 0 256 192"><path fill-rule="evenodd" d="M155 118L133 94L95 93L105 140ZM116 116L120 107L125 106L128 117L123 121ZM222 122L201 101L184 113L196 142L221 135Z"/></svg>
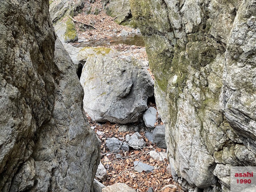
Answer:
<svg viewBox="0 0 256 192"><path fill-rule="evenodd" d="M120 124L111 124L110 122L107 122L100 126L95 121L92 121L88 114L87 118L91 127L94 128L95 133L101 133L98 135L102 141L100 146L101 163L107 170L107 178L105 181L101 180L100 182L105 186L120 182L136 189L137 192L146 192L149 187L152 187L154 192L174 192L174 190L177 192L183 191L172 179L170 170L167 170L167 166L169 164L168 160L164 159L164 161L159 161L149 156L149 152L151 150L166 153L166 149L158 148L155 144L151 143L151 141L145 138L145 132L140 132L140 134L146 141L146 147L140 148L140 150L130 148L129 151L110 152L105 144L107 138L116 137L120 141L125 141L125 135L132 135L134 131L118 132ZM158 122L157 124L161 124L161 122ZM134 161L140 161L142 163L152 165L155 169L153 172L143 171L139 173L133 168ZM170 184L177 186L177 188L164 188ZM164 189L161 190L162 188Z"/></svg>

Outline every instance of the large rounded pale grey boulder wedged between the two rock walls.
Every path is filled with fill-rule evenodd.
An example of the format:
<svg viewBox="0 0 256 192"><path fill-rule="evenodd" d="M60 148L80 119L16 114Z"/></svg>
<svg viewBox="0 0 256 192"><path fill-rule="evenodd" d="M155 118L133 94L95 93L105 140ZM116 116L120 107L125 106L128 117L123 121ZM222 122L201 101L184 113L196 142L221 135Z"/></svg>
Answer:
<svg viewBox="0 0 256 192"><path fill-rule="evenodd" d="M94 121L139 121L154 92L153 80L141 66L134 58L88 57L80 82L84 87L84 110Z"/></svg>

